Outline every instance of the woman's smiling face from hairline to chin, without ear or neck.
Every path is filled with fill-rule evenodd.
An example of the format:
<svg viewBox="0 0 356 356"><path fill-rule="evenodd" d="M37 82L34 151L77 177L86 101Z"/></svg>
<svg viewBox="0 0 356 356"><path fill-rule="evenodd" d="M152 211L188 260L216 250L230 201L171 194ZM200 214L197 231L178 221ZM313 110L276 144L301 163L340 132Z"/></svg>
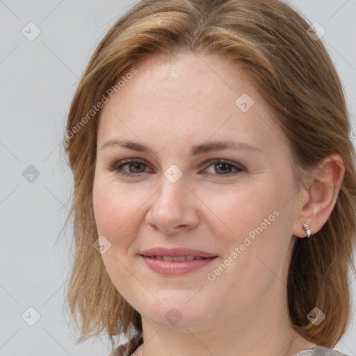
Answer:
<svg viewBox="0 0 356 356"><path fill-rule="evenodd" d="M226 58L152 56L136 70L102 108L97 136L93 203L99 236L111 244L102 254L111 281L165 327L169 316L204 327L277 300L296 187L268 103ZM151 248L213 257L143 257Z"/></svg>

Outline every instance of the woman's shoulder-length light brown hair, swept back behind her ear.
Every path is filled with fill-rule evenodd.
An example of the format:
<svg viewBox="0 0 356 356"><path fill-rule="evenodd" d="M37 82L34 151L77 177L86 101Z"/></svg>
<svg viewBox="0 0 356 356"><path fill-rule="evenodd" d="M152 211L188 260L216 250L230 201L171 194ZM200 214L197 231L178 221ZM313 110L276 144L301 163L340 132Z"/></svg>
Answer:
<svg viewBox="0 0 356 356"><path fill-rule="evenodd" d="M250 74L288 140L298 186L305 170L330 154L342 157L345 174L330 217L312 238L296 238L287 293L291 325L305 339L333 348L346 332L348 272L355 271L355 149L341 81L309 26L279 0L143 0L106 33L75 92L65 133L74 175L69 216L75 241L67 302L79 342L105 332L114 344L115 335L143 331L140 314L115 289L92 246L98 238L92 186L100 112L93 105L154 54L222 56ZM314 307L326 315L318 326L307 318Z"/></svg>

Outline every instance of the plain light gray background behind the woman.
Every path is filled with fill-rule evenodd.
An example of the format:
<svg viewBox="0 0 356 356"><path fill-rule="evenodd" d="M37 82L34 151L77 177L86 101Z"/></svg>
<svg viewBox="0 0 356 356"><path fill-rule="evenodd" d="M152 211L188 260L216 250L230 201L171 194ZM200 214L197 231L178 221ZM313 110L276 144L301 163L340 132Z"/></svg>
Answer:
<svg viewBox="0 0 356 356"><path fill-rule="evenodd" d="M323 42L355 120L356 0L290 2L326 29ZM0 0L0 356L110 353L104 337L76 345L65 314L72 232L63 223L72 175L62 139L81 73L99 40L133 3ZM22 34L29 22L41 31L33 41ZM40 172L33 182L22 175L29 165ZM355 300L355 280L352 288ZM40 314L33 326L22 319L29 307ZM26 313L26 320L33 318ZM354 310L353 324L336 346L348 355L356 355L355 320Z"/></svg>

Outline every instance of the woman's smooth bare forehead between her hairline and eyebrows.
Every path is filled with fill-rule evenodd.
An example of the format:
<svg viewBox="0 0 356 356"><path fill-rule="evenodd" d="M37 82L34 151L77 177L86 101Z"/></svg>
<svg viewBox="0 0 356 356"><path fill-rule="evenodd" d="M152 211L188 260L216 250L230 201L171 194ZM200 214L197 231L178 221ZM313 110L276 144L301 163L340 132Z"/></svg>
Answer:
<svg viewBox="0 0 356 356"><path fill-rule="evenodd" d="M181 143L212 137L261 146L282 135L248 73L227 58L151 56L134 68L102 108L99 141L136 135L177 144L177 137Z"/></svg>

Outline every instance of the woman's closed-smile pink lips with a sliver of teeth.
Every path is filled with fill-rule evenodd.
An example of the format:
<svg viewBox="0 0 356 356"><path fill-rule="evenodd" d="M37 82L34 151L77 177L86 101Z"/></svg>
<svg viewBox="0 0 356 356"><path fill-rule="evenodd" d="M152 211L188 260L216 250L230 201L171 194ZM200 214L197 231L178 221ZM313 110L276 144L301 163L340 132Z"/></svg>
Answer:
<svg viewBox="0 0 356 356"><path fill-rule="evenodd" d="M218 257L216 254L188 248L151 248L143 251L140 256L150 269L161 275L184 275L206 266ZM186 257L188 260L172 261L174 257Z"/></svg>

